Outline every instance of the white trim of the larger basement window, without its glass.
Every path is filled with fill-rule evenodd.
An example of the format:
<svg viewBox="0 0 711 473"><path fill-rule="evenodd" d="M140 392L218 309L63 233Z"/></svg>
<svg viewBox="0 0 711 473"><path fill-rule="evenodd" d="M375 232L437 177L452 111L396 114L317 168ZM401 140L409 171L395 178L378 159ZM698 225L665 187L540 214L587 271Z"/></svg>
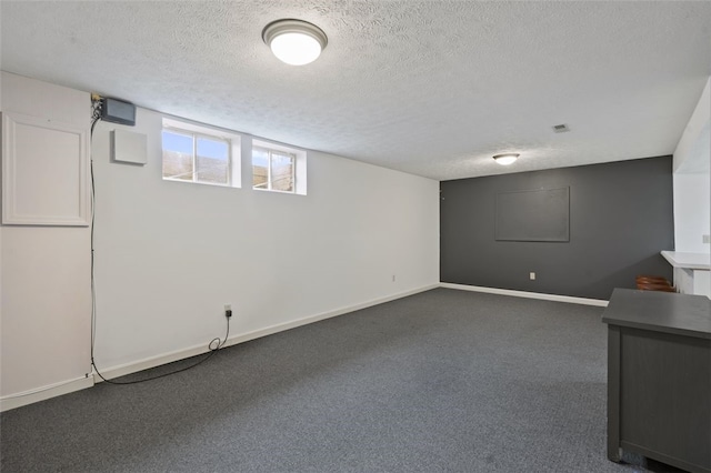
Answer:
<svg viewBox="0 0 711 473"><path fill-rule="evenodd" d="M201 185L217 185L219 188L241 188L242 187L242 173L241 173L241 137L237 133L229 132L226 130L221 130L218 128L204 125L204 124L196 124L188 121L179 121L163 118L163 127L161 129L167 130L173 133L184 133L187 135L196 137L196 138L207 138L210 140L223 140L229 144L229 157L228 157L228 182L226 184L219 182L208 182L196 180L196 159L197 159L197 142L198 140L193 140L192 143L192 160L193 160L193 174L192 180L188 181L184 179L174 179L174 178L166 178L163 177L163 181L171 182L183 182L188 184L201 184ZM161 142L161 159L162 159L162 142ZM161 167L162 169L162 167ZM162 175L162 171L161 171Z"/></svg>

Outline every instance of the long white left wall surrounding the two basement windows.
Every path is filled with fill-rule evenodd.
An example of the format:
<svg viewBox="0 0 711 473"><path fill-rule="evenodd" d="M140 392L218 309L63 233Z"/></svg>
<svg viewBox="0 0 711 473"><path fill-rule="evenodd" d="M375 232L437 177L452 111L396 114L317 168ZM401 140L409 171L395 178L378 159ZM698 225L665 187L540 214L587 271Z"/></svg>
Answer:
<svg viewBox="0 0 711 473"><path fill-rule="evenodd" d="M18 101L51 108L58 94L42 84L41 101ZM117 128L148 135L147 165L110 162ZM242 189L163 181L160 129L159 113L139 109L137 127L94 132L96 361L107 373L207 350L224 336L226 303L239 341L438 284L437 181L320 152L308 153L307 195L251 190L249 162ZM3 395L88 370L89 232L73 230L2 228ZM30 256L38 266L21 270ZM18 295L6 303L8 280ZM34 308L50 305L38 320ZM72 343L51 362L36 355L58 334Z"/></svg>

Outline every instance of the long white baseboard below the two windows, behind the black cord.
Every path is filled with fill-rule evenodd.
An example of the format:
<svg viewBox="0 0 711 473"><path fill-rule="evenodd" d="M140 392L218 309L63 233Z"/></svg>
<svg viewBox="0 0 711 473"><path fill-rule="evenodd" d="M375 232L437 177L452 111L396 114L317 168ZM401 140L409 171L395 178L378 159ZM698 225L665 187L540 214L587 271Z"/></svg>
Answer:
<svg viewBox="0 0 711 473"><path fill-rule="evenodd" d="M342 315L349 312L358 311L361 309L367 309L373 305L382 304L384 302L394 301L397 299L407 298L408 295L417 294L420 292L429 291L431 289L439 288L440 284L430 284L422 288L400 292L397 294L388 295L384 298L373 299L367 302L362 302L354 305L349 305L340 309L336 309L333 311L322 312L316 315L310 315L303 319L294 320L291 322L280 323L271 326L267 326L264 329L256 330L253 332L243 333L240 335L231 336L227 340L224 346L237 345L238 343L249 342L250 340L260 339L262 336L271 335L273 333L283 332L286 330L296 329L297 326L308 325L313 322L319 322L321 320L330 319L337 315ZM190 356L196 356L199 354L208 353L208 348L204 343L196 346L191 346L188 349L177 350L170 353L164 353L158 356L151 356L141 361L131 362L118 366L111 366L108 369L103 369L99 366L101 370L101 374L107 380L111 380L113 378L124 376L127 374L137 373L139 371L148 370L150 368L160 366L161 364L172 363L174 361L184 360ZM94 382L100 383L103 380L99 378L98 374L94 373Z"/></svg>

